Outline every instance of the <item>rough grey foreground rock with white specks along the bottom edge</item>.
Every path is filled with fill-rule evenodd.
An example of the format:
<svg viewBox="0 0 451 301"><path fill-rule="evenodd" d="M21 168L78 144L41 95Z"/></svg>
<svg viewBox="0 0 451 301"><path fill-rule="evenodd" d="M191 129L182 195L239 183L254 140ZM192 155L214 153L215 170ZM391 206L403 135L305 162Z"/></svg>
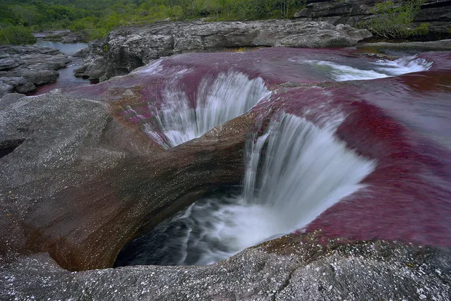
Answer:
<svg viewBox="0 0 451 301"><path fill-rule="evenodd" d="M210 266L69 273L37 254L0 266L2 299L449 300L451 251L284 236Z"/></svg>

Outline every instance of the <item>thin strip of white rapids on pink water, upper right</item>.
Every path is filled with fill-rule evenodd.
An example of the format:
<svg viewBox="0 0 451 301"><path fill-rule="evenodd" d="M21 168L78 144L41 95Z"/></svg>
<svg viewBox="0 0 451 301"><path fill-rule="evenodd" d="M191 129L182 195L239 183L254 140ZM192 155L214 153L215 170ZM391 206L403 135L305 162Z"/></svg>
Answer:
<svg viewBox="0 0 451 301"><path fill-rule="evenodd" d="M298 63L306 63L314 66L318 70L330 75L333 80L342 82L346 80L373 80L376 78L388 78L391 76L403 75L428 70L432 63L416 56L406 56L395 61L379 60L371 65L368 69L359 69L352 66L340 65L330 61L316 60L296 60Z"/></svg>

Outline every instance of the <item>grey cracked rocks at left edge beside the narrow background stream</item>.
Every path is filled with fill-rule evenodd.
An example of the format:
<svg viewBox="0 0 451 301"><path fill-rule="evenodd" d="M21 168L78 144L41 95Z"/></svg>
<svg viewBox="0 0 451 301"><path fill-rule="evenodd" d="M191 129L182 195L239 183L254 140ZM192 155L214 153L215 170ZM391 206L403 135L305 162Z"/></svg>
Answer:
<svg viewBox="0 0 451 301"><path fill-rule="evenodd" d="M27 93L37 85L54 82L56 70L71 62L61 51L37 46L0 47L0 97L6 93Z"/></svg>

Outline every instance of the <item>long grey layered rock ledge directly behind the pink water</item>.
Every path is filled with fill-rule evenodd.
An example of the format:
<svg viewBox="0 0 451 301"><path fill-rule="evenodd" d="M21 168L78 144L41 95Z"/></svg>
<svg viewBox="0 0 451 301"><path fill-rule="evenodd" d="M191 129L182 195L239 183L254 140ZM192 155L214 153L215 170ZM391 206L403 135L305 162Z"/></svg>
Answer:
<svg viewBox="0 0 451 301"><path fill-rule="evenodd" d="M327 22L260 20L176 22L121 27L104 41L92 42L76 76L107 80L162 56L233 47L349 47L371 37L367 30Z"/></svg>

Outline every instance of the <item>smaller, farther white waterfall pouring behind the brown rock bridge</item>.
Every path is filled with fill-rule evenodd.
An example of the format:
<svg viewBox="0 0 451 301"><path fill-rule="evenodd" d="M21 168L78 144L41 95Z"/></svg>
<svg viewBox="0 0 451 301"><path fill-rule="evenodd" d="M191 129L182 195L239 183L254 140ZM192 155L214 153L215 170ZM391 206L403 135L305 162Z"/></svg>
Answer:
<svg viewBox="0 0 451 301"><path fill-rule="evenodd" d="M162 93L160 108L149 104L156 122L145 124L144 130L168 149L240 116L269 94L261 78L250 80L243 73L220 73L215 79L203 78L196 93L196 108L192 108L186 94L174 85Z"/></svg>

